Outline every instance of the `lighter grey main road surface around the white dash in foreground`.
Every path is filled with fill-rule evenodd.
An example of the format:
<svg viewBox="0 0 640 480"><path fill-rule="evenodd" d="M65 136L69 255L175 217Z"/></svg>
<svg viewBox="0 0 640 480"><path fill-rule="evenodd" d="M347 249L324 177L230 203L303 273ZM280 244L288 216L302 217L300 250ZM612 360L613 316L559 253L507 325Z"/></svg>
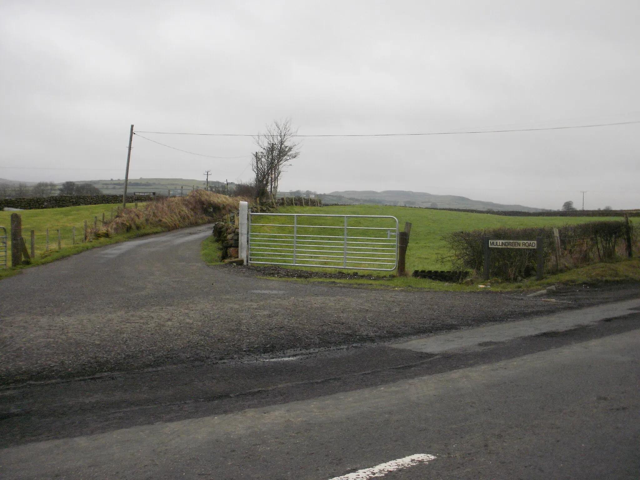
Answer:
<svg viewBox="0 0 640 480"><path fill-rule="evenodd" d="M0 473L324 480L429 454L435 460L386 477L638 478L639 317L602 323L600 332L591 327L587 335L596 339L578 329L564 346L529 344L544 349L507 360L489 357L303 401L18 445L0 450ZM513 347L527 349L526 342Z"/></svg>

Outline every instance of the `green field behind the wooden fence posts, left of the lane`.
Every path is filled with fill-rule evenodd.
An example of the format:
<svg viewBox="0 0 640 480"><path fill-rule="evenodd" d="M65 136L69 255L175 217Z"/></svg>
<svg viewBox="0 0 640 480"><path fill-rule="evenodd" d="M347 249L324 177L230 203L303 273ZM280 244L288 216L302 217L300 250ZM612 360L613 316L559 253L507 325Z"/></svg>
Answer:
<svg viewBox="0 0 640 480"><path fill-rule="evenodd" d="M141 205L141 204L138 204ZM62 250L72 247L73 227L76 227L76 246L82 243L84 235L84 220L90 226L93 226L95 217L98 218L98 224L102 221L102 214L108 220L111 218L111 212L115 215L118 205L83 205L79 207L64 207L59 209L39 209L39 210L23 210L19 212L0 211L0 226L5 227L9 233L11 226L11 214L18 213L22 216L22 237L29 248L29 239L31 230L35 230L35 252L36 260L41 258L45 253L51 255L52 252L58 250L58 229L60 229L61 248ZM133 204L127 204L127 207L133 207ZM47 228L49 228L49 250L46 250ZM11 246L9 246L11 248Z"/></svg>

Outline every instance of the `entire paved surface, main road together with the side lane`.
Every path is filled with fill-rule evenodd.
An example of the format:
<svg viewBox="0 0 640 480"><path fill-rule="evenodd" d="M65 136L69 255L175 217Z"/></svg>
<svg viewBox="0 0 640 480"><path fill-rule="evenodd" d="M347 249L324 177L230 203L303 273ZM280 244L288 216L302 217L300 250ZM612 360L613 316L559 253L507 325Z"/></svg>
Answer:
<svg viewBox="0 0 640 480"><path fill-rule="evenodd" d="M549 302L273 282L202 264L206 234L0 282L0 477L321 480L429 454L386 477L640 478L640 303L576 309L637 287Z"/></svg>

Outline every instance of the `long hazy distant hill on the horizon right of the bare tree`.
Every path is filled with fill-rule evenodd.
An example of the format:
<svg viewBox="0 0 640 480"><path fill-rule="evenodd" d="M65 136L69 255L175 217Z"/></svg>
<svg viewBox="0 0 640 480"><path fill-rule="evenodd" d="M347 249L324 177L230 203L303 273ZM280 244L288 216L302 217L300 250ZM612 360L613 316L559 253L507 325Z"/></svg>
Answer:
<svg viewBox="0 0 640 480"><path fill-rule="evenodd" d="M482 200L471 200L466 196L433 195L426 192L406 190L346 190L319 195L324 204L380 204L405 207L431 207L452 209L496 210L540 212L542 209L524 205L504 205Z"/></svg>

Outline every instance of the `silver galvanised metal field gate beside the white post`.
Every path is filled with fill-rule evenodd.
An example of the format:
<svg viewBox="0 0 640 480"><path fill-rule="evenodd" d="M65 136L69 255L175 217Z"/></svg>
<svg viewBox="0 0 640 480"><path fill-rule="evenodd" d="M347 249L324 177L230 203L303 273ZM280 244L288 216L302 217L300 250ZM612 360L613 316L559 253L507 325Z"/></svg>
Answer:
<svg viewBox="0 0 640 480"><path fill-rule="evenodd" d="M394 216L250 212L248 264L392 271L398 237Z"/></svg>

